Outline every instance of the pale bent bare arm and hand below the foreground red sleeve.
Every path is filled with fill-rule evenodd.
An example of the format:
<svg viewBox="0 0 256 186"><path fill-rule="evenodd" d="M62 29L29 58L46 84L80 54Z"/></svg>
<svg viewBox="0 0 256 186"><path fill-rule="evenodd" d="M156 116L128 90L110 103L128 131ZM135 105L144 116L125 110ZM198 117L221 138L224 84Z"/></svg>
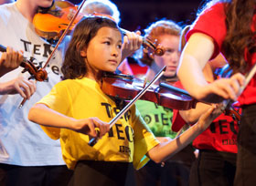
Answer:
<svg viewBox="0 0 256 186"><path fill-rule="evenodd" d="M177 76L194 98L208 102L220 102L223 98L236 100L240 86L244 82L244 77L240 73L210 84L203 76L202 69L213 52L214 43L211 37L200 33L193 34L182 52Z"/></svg>

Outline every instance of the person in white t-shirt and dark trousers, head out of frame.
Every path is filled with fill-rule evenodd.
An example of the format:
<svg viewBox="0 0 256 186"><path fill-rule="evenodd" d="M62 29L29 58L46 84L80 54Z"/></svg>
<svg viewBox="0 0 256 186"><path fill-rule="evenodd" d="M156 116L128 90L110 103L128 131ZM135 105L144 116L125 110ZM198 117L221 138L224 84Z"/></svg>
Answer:
<svg viewBox="0 0 256 186"><path fill-rule="evenodd" d="M23 54L18 52L19 55L22 54L27 59L33 58L37 67L43 67L53 47L37 36L32 21L38 6L49 7L52 2L17 0L12 4L0 5L0 45L12 47L14 52L11 55L22 50ZM4 60L7 53L1 54L0 60ZM21 58L13 62L18 64ZM27 119L32 105L59 82L61 62L61 51L58 49L46 67L47 82L38 82L37 90L34 80L27 80L29 74L21 73L22 67L17 67L0 78L1 186L62 186L69 181L71 171L68 171L62 160L59 140L48 139L39 126ZM23 100L20 95L27 98L22 109L18 109Z"/></svg>

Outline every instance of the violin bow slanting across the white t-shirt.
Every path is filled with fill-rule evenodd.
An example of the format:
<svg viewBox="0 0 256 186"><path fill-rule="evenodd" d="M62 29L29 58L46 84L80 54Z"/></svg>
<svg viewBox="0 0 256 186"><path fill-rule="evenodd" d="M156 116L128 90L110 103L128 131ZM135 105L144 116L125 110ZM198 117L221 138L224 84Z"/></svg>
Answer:
<svg viewBox="0 0 256 186"><path fill-rule="evenodd" d="M65 31L63 32L63 34L59 37L59 41L57 42L56 46L54 47L54 49L52 50L52 52L50 53L50 56L48 57L47 62L45 63L44 67L42 67L43 69L46 68L48 66L48 63L50 61L50 59L53 57L55 51L58 49L59 44L62 42L62 40L64 39L64 37L68 34L69 28L70 26L73 24L75 18L79 15L80 13L80 9L82 8L82 6L84 5L86 0L83 0L82 3L80 4L77 12L75 15L73 15L73 17L71 18L69 25L67 26L67 28L65 29ZM37 82L37 81L36 81ZM18 109L21 109L23 107L23 105L26 103L27 98L24 98L22 100L22 102L19 104Z"/></svg>

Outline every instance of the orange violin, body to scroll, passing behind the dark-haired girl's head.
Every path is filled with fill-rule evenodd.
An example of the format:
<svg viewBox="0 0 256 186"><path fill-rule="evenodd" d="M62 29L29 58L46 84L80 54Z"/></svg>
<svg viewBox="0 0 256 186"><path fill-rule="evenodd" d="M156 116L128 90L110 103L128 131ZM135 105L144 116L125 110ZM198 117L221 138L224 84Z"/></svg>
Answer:
<svg viewBox="0 0 256 186"><path fill-rule="evenodd" d="M59 40L59 37L62 36L64 30L68 29L67 34L69 34L80 19L84 17L81 13L78 13L75 16L75 13L77 12L77 6L69 1L55 1L54 5L47 11L39 9L38 13L33 18L33 25L35 26L37 35L46 38L47 40ZM105 16L115 21L111 15L96 13L93 15ZM69 26L69 23L74 16L75 18ZM123 35L129 32L123 28L120 29L123 32ZM148 38L143 38L143 47L148 50L151 55L163 56L165 54L164 47L156 45Z"/></svg>

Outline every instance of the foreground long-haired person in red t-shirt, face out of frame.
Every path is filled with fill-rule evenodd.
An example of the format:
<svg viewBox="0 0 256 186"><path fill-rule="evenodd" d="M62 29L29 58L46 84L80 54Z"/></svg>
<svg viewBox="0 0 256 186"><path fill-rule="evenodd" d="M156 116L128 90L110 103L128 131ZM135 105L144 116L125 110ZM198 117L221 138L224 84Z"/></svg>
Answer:
<svg viewBox="0 0 256 186"><path fill-rule="evenodd" d="M187 46L177 72L194 98L215 103L239 99L242 116L235 185L256 181L256 76L240 94L240 87L246 83L244 74L256 60L255 18L254 0L209 2L187 33ZM219 52L229 61L234 75L208 83L202 69Z"/></svg>

